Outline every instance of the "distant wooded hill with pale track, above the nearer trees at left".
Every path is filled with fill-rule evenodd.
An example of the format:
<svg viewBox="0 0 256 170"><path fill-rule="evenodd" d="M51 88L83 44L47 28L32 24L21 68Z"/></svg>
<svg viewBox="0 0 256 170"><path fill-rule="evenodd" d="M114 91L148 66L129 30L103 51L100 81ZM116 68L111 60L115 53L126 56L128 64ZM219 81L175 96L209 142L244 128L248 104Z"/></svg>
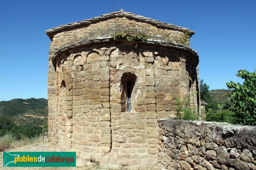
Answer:
<svg viewBox="0 0 256 170"><path fill-rule="evenodd" d="M47 123L47 100L31 98L0 101L0 116L11 119L17 125L42 126Z"/></svg>

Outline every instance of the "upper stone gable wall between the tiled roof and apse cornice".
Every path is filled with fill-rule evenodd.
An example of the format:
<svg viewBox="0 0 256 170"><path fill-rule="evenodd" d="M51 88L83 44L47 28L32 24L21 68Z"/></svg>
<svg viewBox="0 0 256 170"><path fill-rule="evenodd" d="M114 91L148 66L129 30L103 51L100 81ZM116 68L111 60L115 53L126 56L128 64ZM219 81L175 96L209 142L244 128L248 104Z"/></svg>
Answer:
<svg viewBox="0 0 256 170"><path fill-rule="evenodd" d="M133 19L124 16L113 16L112 18L104 19L101 21L95 21L85 26L79 26L76 28L69 28L61 32L55 32L51 35L52 43L50 45L49 58L52 59L52 55L61 50L67 45L76 44L77 42L87 39L93 39L102 36L109 36L106 33L110 33L113 30L130 29L134 31L143 31L152 36L162 37L163 35L171 37L172 41L183 35L181 30L172 30L159 26L154 26L150 23L142 22L139 19ZM188 47L189 41L186 44Z"/></svg>

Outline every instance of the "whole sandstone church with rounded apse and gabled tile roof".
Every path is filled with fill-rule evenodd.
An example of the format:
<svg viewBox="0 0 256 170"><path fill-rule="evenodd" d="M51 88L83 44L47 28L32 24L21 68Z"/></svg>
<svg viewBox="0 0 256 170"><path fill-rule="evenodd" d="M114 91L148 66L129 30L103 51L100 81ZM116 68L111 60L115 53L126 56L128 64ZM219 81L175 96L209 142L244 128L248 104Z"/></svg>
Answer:
<svg viewBox="0 0 256 170"><path fill-rule="evenodd" d="M154 38L110 36L123 29ZM81 162L155 164L156 119L174 115L175 99L189 94L199 106L198 55L189 41L173 42L184 30L194 34L123 10L47 30L49 148Z"/></svg>

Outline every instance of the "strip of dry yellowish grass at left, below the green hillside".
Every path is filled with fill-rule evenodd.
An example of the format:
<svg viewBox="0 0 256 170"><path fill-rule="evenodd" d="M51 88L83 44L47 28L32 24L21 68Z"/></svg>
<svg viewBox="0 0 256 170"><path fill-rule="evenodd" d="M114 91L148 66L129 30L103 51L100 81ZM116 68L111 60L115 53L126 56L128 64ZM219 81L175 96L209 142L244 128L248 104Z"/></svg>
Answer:
<svg viewBox="0 0 256 170"><path fill-rule="evenodd" d="M20 146L26 146L28 144L33 144L42 140L42 136L31 137L22 137L21 140L17 140L13 134L5 134L3 137L0 137L0 152L4 152L7 149L13 149Z"/></svg>

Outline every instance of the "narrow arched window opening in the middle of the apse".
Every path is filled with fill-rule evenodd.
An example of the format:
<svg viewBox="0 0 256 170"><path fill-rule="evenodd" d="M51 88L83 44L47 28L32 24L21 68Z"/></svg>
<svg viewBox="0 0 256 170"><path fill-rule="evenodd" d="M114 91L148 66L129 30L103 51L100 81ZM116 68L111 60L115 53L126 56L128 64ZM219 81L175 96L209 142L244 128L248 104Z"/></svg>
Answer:
<svg viewBox="0 0 256 170"><path fill-rule="evenodd" d="M122 112L130 112L133 109L134 96L133 96L133 87L136 81L135 74L124 73L121 77L122 83L122 93L121 93L121 102L122 102Z"/></svg>

